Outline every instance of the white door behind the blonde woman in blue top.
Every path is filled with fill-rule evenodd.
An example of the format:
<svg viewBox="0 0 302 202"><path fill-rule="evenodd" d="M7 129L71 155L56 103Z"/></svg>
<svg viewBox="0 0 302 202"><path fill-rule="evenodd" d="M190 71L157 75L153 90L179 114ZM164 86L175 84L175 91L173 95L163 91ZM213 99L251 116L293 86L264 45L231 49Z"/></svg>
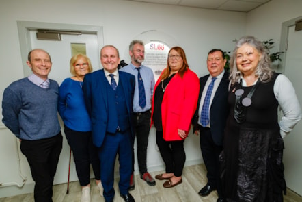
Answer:
<svg viewBox="0 0 302 202"><path fill-rule="evenodd" d="M70 75L70 58L72 57L71 44L81 43L86 45L86 55L92 62L94 71L100 67L100 54L98 52L98 38L96 34L82 34L82 35L61 35L60 41L53 40L38 40L36 38L36 31L30 31L31 47L32 49L44 49L51 55L53 66L51 73L49 74L50 79L54 79L61 85L61 82ZM59 158L59 164L57 166L57 173L55 175L54 184L65 183L68 179L68 162L70 147L67 143L64 134L64 125L60 119L61 131L64 136L63 138L63 149ZM90 175L94 177L93 173ZM70 181L77 181L77 173L74 167L73 157L71 157L70 166Z"/></svg>

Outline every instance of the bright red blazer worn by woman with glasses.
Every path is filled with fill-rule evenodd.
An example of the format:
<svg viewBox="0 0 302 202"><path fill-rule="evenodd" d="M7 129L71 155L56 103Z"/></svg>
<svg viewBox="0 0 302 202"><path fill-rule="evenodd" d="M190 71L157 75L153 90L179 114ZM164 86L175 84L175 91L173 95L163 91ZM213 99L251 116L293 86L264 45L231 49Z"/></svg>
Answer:
<svg viewBox="0 0 302 202"><path fill-rule="evenodd" d="M159 84L161 84L160 79L156 81L154 89L156 89ZM182 78L177 73L171 81L169 81L161 104L163 138L166 141L182 140L182 138L178 136L178 129L186 131L188 136L191 128L191 119L197 108L199 92L200 81L197 75L190 69L184 73ZM154 104L154 94L152 102ZM151 117L153 117L153 104Z"/></svg>

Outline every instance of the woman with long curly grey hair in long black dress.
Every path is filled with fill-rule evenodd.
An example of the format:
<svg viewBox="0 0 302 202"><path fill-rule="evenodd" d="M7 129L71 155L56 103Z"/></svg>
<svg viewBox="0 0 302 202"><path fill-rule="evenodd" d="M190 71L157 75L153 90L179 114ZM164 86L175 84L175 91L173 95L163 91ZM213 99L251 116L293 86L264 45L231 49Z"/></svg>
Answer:
<svg viewBox="0 0 302 202"><path fill-rule="evenodd" d="M301 119L292 83L270 68L269 51L252 36L230 60L230 114L221 153L227 201L283 201L283 139ZM278 123L277 108L284 116Z"/></svg>

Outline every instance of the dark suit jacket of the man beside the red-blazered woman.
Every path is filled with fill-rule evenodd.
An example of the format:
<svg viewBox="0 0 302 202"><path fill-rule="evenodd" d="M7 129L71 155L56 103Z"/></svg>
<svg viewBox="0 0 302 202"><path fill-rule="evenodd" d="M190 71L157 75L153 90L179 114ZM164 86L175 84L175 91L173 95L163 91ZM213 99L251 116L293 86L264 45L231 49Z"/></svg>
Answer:
<svg viewBox="0 0 302 202"><path fill-rule="evenodd" d="M200 129L198 120L200 114L198 109L200 107L200 99L202 97L202 91L206 85L206 81L210 75L200 77L200 95L197 103L197 110L193 116L193 131ZM212 138L216 145L221 146L223 141L223 132L225 129L225 122L228 117L229 107L228 107L228 87L230 80L228 79L229 73L225 71L220 84L215 92L212 104L210 105L210 131Z"/></svg>

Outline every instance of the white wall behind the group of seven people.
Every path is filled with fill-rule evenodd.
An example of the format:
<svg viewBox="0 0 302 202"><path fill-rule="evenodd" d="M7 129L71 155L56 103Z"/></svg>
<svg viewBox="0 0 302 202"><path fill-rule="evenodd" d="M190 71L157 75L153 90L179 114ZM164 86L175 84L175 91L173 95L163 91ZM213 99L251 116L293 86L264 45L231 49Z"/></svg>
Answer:
<svg viewBox="0 0 302 202"><path fill-rule="evenodd" d="M207 73L206 55L210 49L219 48L231 51L234 49L232 40L245 34L254 34L260 39L275 38L281 28L273 29L273 27L280 26L279 24L285 20L285 16L297 16L292 10L298 13L301 8L301 1L292 0L290 2L294 2L296 5L282 3L273 6L271 15L276 17L276 21L272 21L266 15L265 18L258 17L264 15L262 12L267 12L267 9L262 10L261 7L246 14L118 0L1 1L0 99L2 100L2 93L6 86L23 77L22 64L25 61L21 60L16 21L102 26L104 44L115 45L120 49L121 55L127 52L128 44L135 36L143 31L158 30L174 38L177 45L184 48L189 66L200 77ZM267 5L264 6L264 8L267 7ZM279 12L274 14L273 11L282 12L284 18L277 17L281 14ZM266 23L272 22L272 26L264 26ZM258 25L262 26L258 27ZM279 38L275 38L275 40L277 42ZM70 60L70 58L66 58L66 60ZM148 164L150 171L163 168L161 157L156 151L154 136L155 131L152 129L148 160L156 162ZM0 183L20 181L16 161L18 153L16 153L14 145L15 140L10 131L0 128ZM68 146L64 145L64 147ZM185 142L185 149L187 164L202 162L199 138L190 134ZM33 192L29 166L22 154L20 154L20 164L22 173L29 178L25 186L23 188L0 186L0 197ZM57 172L64 173L64 179L67 180L67 171Z"/></svg>

